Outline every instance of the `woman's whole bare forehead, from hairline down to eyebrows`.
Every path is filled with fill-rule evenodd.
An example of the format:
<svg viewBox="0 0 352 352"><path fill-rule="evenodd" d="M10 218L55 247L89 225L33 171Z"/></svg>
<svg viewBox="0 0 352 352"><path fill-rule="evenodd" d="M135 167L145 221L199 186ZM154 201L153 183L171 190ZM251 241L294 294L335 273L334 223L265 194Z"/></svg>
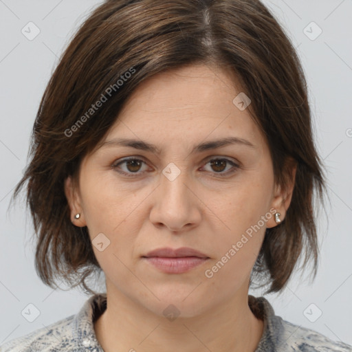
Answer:
<svg viewBox="0 0 352 352"><path fill-rule="evenodd" d="M188 65L142 82L125 102L98 148L116 138L150 141L167 148L238 137L265 143L248 109L234 98L242 89L232 72L209 65Z"/></svg>

